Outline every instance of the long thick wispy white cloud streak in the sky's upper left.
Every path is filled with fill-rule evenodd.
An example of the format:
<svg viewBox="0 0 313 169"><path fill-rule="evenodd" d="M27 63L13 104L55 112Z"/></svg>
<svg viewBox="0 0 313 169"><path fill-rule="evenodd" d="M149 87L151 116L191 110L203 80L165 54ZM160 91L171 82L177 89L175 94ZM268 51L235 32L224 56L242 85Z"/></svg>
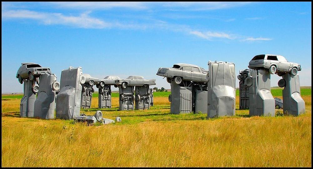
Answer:
<svg viewBox="0 0 313 169"><path fill-rule="evenodd" d="M92 18L89 13L82 13L79 16L65 16L61 13L40 13L29 10L9 10L2 11L1 17L6 18L26 18L38 20L44 24L63 24L79 28L96 28L102 29L110 27L110 23L106 23L98 18Z"/></svg>

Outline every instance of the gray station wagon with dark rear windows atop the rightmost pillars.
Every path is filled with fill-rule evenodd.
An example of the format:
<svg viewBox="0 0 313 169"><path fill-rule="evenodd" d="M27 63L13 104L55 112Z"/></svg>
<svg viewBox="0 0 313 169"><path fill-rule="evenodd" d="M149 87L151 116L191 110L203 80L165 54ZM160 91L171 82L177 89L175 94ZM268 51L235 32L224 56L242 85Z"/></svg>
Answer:
<svg viewBox="0 0 313 169"><path fill-rule="evenodd" d="M288 72L292 75L296 75L301 70L301 66L298 63L292 63L285 59L281 55L256 55L249 62L249 68L254 70L268 69L270 74L277 74L282 76Z"/></svg>

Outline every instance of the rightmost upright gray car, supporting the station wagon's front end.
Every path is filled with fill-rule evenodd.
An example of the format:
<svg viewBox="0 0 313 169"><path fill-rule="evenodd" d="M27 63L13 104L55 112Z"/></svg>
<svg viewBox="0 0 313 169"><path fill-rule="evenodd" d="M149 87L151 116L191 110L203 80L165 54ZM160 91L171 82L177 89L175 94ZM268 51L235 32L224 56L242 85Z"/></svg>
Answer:
<svg viewBox="0 0 313 169"><path fill-rule="evenodd" d="M285 85L282 85L285 86L283 89L284 114L298 116L305 113L305 102L300 95L299 74L293 76L285 73L282 77L280 82L285 81Z"/></svg>

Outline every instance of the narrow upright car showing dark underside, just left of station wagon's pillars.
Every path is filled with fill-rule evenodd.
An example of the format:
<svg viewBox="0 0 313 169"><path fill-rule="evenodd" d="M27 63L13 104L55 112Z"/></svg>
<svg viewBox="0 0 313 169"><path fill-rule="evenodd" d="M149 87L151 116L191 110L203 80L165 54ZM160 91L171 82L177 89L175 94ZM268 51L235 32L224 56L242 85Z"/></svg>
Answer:
<svg viewBox="0 0 313 169"><path fill-rule="evenodd" d="M237 76L239 80L239 109L249 109L249 86L245 83L249 72L249 69L240 70Z"/></svg>

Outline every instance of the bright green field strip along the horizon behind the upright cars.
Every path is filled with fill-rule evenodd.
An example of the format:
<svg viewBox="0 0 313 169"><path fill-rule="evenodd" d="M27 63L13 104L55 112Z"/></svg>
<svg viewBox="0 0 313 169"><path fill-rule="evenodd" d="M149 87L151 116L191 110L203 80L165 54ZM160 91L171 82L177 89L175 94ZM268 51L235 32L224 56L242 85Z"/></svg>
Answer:
<svg viewBox="0 0 313 169"><path fill-rule="evenodd" d="M301 96L309 96L312 93L312 90L308 87L301 87ZM273 87L271 89L272 95L273 96L282 96L282 88L278 87ZM171 94L171 92L153 92L154 97L163 97L163 96L168 96ZM119 93L118 92L112 92L111 94L112 97L118 97ZM236 96L239 96L239 90L236 90ZM92 97L97 98L98 97L98 92L95 92L92 94ZM17 94L17 95L2 95L2 99L22 99L23 95L22 94Z"/></svg>

